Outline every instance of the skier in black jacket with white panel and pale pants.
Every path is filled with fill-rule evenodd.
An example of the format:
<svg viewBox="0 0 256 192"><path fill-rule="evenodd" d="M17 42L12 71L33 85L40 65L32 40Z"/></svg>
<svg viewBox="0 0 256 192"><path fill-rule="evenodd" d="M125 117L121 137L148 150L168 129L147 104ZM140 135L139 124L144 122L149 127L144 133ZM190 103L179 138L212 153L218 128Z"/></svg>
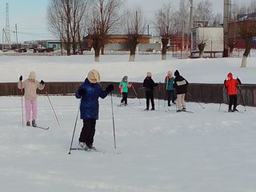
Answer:
<svg viewBox="0 0 256 192"><path fill-rule="evenodd" d="M174 88L176 88L178 102L177 112L181 112L182 110L186 110L185 94L189 83L179 74L178 70L174 72L174 76Z"/></svg>

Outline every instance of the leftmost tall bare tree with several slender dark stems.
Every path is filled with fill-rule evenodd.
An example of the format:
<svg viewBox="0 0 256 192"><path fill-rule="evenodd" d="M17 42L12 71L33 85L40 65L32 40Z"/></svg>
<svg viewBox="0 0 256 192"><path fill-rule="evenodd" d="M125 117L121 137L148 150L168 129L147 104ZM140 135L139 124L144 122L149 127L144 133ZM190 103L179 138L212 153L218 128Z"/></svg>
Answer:
<svg viewBox="0 0 256 192"><path fill-rule="evenodd" d="M87 1L84 0L50 0L47 7L47 22L49 30L61 38L66 46L67 55L70 55L71 42L78 39L78 26L84 18ZM73 50L74 49L73 44Z"/></svg>

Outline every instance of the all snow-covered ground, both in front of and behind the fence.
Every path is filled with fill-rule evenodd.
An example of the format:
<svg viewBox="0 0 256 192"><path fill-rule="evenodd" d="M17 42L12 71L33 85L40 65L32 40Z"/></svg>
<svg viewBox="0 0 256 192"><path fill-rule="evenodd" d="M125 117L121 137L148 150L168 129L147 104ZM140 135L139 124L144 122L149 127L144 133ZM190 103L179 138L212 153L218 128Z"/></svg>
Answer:
<svg viewBox="0 0 256 192"><path fill-rule="evenodd" d="M97 69L102 81L142 82L152 71L155 82L167 70L178 69L189 82L222 83L227 72L242 82L255 83L255 58L241 69L241 58L185 59L138 55L22 57L2 56L0 82L17 82L35 70L38 80L83 81ZM78 113L74 96L50 96L61 126L46 96L38 97L38 125L22 127L21 97L0 97L0 189L4 192L254 192L256 191L255 107L238 106L241 113L226 113L227 106L189 102L194 113L168 110L155 99L155 111L142 111L146 100L129 99L119 107L113 97L116 145L114 149L111 97L100 99L94 146L102 153L72 150L68 154ZM24 101L24 99L23 99ZM219 110L220 107L220 110ZM170 110L175 110L170 106ZM73 146L78 146L82 120L78 119Z"/></svg>

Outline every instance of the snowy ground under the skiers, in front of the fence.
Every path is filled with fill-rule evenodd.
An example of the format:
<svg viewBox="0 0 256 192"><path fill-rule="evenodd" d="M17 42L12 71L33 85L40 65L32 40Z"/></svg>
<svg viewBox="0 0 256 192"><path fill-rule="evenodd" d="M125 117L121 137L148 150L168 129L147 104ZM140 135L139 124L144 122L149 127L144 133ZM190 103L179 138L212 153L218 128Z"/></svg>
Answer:
<svg viewBox="0 0 256 192"><path fill-rule="evenodd" d="M114 149L111 100L100 100L94 145L104 153L68 154L78 100L51 96L61 126L45 96L38 97L38 125L22 127L21 98L0 99L1 191L92 192L241 192L256 190L256 110L238 106L187 103L194 113L142 111L145 99L114 101L117 148ZM175 110L175 106L170 106ZM74 145L82 121L78 120ZM117 154L121 152L121 154Z"/></svg>

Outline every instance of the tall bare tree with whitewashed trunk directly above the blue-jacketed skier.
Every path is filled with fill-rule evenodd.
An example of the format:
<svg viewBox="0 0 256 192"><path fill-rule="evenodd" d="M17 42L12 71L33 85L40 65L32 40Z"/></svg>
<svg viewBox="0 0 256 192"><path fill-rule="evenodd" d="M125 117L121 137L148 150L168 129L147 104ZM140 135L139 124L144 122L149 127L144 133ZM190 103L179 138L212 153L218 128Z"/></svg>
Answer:
<svg viewBox="0 0 256 192"><path fill-rule="evenodd" d="M94 61L99 61L100 50L104 54L106 38L114 30L118 20L118 7L121 0L91 0L91 12L87 27L87 34L92 39Z"/></svg>

